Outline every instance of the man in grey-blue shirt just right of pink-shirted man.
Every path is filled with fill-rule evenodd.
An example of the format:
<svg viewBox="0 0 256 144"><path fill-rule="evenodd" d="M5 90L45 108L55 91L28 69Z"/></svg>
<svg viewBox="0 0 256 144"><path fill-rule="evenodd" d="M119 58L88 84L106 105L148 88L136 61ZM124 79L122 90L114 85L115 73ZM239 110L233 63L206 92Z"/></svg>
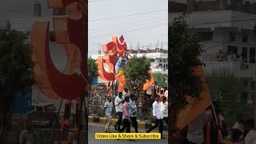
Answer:
<svg viewBox="0 0 256 144"><path fill-rule="evenodd" d="M130 114L130 120L134 125L135 133L138 133L138 122L137 122L137 118L136 118L138 102L135 102L135 95L130 94L129 114Z"/></svg>

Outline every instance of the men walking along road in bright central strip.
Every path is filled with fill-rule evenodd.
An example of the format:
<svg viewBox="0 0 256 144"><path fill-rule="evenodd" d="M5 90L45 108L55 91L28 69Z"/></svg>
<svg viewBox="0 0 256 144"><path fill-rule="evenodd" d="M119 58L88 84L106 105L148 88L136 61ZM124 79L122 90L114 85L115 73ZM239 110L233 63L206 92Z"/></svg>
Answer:
<svg viewBox="0 0 256 144"><path fill-rule="evenodd" d="M129 94L126 89L124 93L119 92L118 97L114 98L114 105L112 98L108 98L108 101L104 105L104 110L106 114L106 127L105 132L110 132L110 125L112 120L112 108L115 106L115 111L118 116L118 121L114 125L114 129L118 130L119 133L122 133L126 130L126 133L130 133L130 125L133 123L134 130L138 133L138 101L136 102L136 95ZM168 125L168 102L165 94L157 94L153 106L153 116L154 116L154 126L149 130L146 130L147 133L159 127L159 133L163 131L163 121ZM122 128L121 128L122 126ZM162 136L162 138L164 138Z"/></svg>

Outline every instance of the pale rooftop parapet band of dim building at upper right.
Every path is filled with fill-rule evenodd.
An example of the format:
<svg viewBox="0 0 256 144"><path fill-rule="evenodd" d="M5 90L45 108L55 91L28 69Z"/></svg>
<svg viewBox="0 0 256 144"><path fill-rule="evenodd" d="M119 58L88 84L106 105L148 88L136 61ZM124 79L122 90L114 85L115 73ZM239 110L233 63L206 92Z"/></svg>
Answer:
<svg viewBox="0 0 256 144"><path fill-rule="evenodd" d="M182 13L169 13L169 22ZM234 10L198 11L186 15L186 22L193 28L235 28L254 30L256 14L246 14Z"/></svg>

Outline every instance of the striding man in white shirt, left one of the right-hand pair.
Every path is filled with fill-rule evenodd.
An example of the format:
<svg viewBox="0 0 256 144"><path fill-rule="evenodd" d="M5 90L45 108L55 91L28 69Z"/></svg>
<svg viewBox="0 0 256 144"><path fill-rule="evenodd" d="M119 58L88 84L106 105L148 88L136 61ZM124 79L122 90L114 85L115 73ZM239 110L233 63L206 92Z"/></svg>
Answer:
<svg viewBox="0 0 256 144"><path fill-rule="evenodd" d="M161 114L161 105L160 105L160 95L156 95L155 102L153 103L153 116L154 116L154 126L152 126L149 130L146 130L147 133L154 130L159 126L159 133L161 134L161 138L164 138L162 136L162 129L163 129L163 120L162 120L162 114Z"/></svg>

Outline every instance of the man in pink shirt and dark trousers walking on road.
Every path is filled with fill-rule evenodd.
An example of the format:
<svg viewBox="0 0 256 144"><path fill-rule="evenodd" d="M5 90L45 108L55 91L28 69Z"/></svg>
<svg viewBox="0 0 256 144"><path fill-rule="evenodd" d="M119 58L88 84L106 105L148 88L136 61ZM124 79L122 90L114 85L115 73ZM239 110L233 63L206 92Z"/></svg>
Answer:
<svg viewBox="0 0 256 144"><path fill-rule="evenodd" d="M122 129L119 130L118 133L122 133L124 130L126 130L126 133L130 133L130 114L129 114L129 103L130 97L126 96L125 103L122 107Z"/></svg>

